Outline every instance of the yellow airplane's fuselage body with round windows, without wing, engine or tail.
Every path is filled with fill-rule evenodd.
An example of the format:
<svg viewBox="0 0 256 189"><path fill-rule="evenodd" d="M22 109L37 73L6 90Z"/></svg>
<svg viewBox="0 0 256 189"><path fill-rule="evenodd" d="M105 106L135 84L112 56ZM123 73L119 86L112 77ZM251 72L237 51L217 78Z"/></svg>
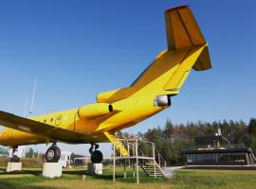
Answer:
<svg viewBox="0 0 256 189"><path fill-rule="evenodd" d="M109 132L114 133L120 129L134 126L138 122L167 108L167 106L155 106L154 100L155 94L119 100L111 104L114 109L113 112L94 119L81 119L78 113L79 108L39 115L31 117L30 119L56 128L74 131L74 136L71 137L72 140L63 141L65 143L101 143L108 141L103 134L104 130L107 129ZM58 138L49 139L38 134L29 133L32 132L32 130L26 130L26 126L20 127L24 131L8 128L3 129L0 133L0 144L4 146L20 146L59 141ZM75 133L81 133L82 137L80 136L78 138Z"/></svg>

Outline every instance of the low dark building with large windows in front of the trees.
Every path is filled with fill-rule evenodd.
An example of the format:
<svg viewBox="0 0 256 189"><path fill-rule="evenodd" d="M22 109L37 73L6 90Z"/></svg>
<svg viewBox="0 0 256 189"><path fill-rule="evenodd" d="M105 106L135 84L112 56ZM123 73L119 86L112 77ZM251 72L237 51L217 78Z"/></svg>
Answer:
<svg viewBox="0 0 256 189"><path fill-rule="evenodd" d="M195 146L183 148L187 165L251 165L255 156L244 145L231 145L224 136L195 137Z"/></svg>

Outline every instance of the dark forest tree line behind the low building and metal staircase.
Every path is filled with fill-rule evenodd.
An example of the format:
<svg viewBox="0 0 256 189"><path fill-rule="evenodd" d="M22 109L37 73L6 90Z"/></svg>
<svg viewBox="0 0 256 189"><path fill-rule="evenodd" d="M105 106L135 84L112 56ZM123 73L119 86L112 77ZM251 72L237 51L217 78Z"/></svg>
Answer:
<svg viewBox="0 0 256 189"><path fill-rule="evenodd" d="M222 135L227 137L231 144L243 144L256 153L255 118L251 118L248 124L233 120L173 124L168 119L164 127L148 129L145 133L138 132L137 137L155 143L156 149L168 164L184 164L186 159L182 148L195 146L194 137L214 136L217 129L221 129Z"/></svg>

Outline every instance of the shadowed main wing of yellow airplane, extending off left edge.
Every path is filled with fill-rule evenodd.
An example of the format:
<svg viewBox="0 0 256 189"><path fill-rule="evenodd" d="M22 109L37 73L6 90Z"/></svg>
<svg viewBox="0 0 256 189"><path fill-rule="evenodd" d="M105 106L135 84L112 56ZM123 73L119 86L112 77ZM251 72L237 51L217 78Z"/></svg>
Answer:
<svg viewBox="0 0 256 189"><path fill-rule="evenodd" d="M27 133L44 136L46 138L63 141L78 142L82 140L82 134L69 129L54 127L45 123L27 119L9 112L0 111L0 125L10 129L17 129Z"/></svg>

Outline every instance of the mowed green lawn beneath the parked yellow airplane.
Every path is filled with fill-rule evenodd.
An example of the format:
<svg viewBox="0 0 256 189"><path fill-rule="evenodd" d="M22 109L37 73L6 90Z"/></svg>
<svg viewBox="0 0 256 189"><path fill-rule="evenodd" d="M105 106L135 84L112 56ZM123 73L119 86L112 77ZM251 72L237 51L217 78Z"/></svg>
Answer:
<svg viewBox="0 0 256 189"><path fill-rule="evenodd" d="M154 179L140 172L140 184L133 178L133 171L129 169L127 179L123 179L122 169L118 169L116 182L112 181L112 169L105 168L102 176L85 175L83 169L64 170L59 179L46 179L41 176L41 169L24 169L22 173L6 173L0 169L0 189L162 189L162 188L223 188L249 189L256 188L256 170L195 170L181 169L176 171L174 179Z"/></svg>

